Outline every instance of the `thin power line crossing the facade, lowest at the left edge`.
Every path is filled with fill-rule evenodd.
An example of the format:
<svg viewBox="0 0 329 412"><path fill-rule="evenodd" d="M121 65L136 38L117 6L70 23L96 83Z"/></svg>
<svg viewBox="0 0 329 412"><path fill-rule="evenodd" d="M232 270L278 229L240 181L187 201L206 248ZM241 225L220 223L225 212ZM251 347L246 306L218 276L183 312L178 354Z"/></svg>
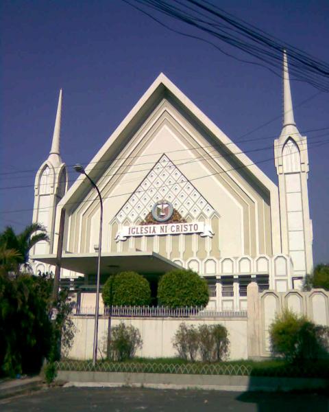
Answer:
<svg viewBox="0 0 329 412"><path fill-rule="evenodd" d="M329 144L329 141L317 142L317 146L315 146L315 147L324 146L325 144ZM302 152L302 151L304 151L304 150L308 150L308 148L301 149L300 152ZM249 163L248 165L241 165L241 166L239 166L239 167L237 167L237 168L231 168L231 169L228 169L228 170L222 170L221 172L215 172L215 173L211 173L211 174L206 174L205 176L199 176L199 177L195 177L195 178L193 178L193 179L188 179L188 181L196 181L196 180L199 180L199 179L205 179L206 177L216 176L217 174L234 172L234 171L236 171L236 170L241 170L241 169L244 169L244 168L249 168L250 166L258 165L259 163L265 163L265 162L267 162L267 161L273 161L273 159L274 159L274 160L275 160L275 159L280 159L280 157L289 156L289 155L290 155L290 154L288 154L288 155L281 155L281 156L274 157L274 158L273 158L273 157L269 157L268 159L263 159L263 160L260 160L260 161L252 162L252 163ZM141 179L138 179L138 180L141 180ZM178 183L172 183L172 184L170 184L170 185L163 185L162 187L169 187L169 186L174 186L174 185L177 185L177 184L178 184ZM147 192L147 190L143 190L143 191L140 191L140 192ZM134 193L137 193L136 190L134 190L134 192L127 192L127 193L116 194L116 195L112 195L112 196L104 196L103 199L116 198L116 197L120 197L120 196L127 196L127 195L129 195L129 194L134 194ZM82 203L94 202L94 201L96 201L96 200L97 200L97 198L90 199L90 200L88 200L88 201L68 202L68 203L65 203L65 205L80 205L80 204L82 204ZM0 211L0 213L1 213L1 214L4 214L4 213L8 213L8 214L9 214L9 213L19 213L19 212L22 212L22 211L34 211L34 210L43 210L43 209L53 209L53 207L57 207L57 205L56 205L56 206L49 206L49 207L40 207L40 208L37 208L37 207L36 207L36 208L32 208L32 209L5 210L5 211Z"/></svg>

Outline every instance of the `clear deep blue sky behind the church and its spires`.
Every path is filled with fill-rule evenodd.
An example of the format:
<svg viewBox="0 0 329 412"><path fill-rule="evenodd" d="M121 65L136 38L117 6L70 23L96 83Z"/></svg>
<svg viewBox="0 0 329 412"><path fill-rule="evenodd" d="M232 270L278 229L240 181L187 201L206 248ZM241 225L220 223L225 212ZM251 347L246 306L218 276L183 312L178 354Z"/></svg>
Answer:
<svg viewBox="0 0 329 412"><path fill-rule="evenodd" d="M217 4L329 61L328 0ZM281 130L281 119L275 118L282 113L282 84L266 69L169 32L120 0L3 0L0 7L0 187L24 186L0 190L0 211L6 211L0 214L0 230L12 225L20 231L32 220L34 170L50 150L60 87L64 93L62 158L69 165L90 161L161 71L224 133L239 141L242 150L266 146L247 153L253 161L273 157L273 139ZM298 107L317 90L292 82L292 93L301 133L329 126L329 93L319 93ZM308 142L324 133L306 133ZM328 144L310 145L315 263L329 261L328 155ZM260 163L260 168L277 181L274 161ZM32 172L3 174L17 170ZM70 168L69 178L75 177ZM15 213L17 209L30 210Z"/></svg>

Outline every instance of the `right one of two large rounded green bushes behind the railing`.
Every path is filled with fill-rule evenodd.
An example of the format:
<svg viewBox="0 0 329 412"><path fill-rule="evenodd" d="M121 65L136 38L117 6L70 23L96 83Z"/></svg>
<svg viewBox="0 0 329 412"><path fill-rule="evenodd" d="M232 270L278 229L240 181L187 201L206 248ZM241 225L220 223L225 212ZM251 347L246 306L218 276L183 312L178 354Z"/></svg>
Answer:
<svg viewBox="0 0 329 412"><path fill-rule="evenodd" d="M209 301L206 280L193 271L176 269L163 275L158 284L158 302L169 308L206 306Z"/></svg>

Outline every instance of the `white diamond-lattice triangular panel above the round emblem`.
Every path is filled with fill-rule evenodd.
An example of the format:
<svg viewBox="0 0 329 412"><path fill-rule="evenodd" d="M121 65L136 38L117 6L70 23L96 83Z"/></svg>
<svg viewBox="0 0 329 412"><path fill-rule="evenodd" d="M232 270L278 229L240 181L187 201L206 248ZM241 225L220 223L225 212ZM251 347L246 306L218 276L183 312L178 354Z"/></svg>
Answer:
<svg viewBox="0 0 329 412"><path fill-rule="evenodd" d="M144 219L154 204L162 199L173 204L182 218L188 214L197 219L200 214L210 218L214 209L206 199L199 194L191 182L178 170L166 155L156 163L123 205L117 214L119 222L129 220L134 224L138 219Z"/></svg>

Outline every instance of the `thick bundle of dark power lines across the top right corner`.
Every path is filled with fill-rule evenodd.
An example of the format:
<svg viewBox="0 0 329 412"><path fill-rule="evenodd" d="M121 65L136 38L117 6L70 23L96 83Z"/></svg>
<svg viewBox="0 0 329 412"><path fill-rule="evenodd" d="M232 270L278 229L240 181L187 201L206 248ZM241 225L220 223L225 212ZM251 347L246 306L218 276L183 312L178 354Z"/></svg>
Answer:
<svg viewBox="0 0 329 412"><path fill-rule="evenodd" d="M253 25L245 23L236 16L225 12L223 9L216 7L208 1L123 1L173 32L210 43L210 45L219 49L220 52L232 58L236 58L236 60L266 67L272 71L272 73L280 77L282 51L283 49L287 49L291 73L295 77L294 80L308 82L312 84L313 87L317 87L317 89L329 91L329 65L327 62L313 58L310 54L307 54L286 42L278 40L278 38L267 34ZM145 8L156 10L156 12L169 16L171 19L195 27L198 31L204 32L210 37L215 37L217 40L253 56L257 61L243 60L229 54L217 44L206 38L175 30L166 25L163 21L156 19L156 17L153 14L150 14L150 12L147 12ZM202 18L200 18L200 16Z"/></svg>

